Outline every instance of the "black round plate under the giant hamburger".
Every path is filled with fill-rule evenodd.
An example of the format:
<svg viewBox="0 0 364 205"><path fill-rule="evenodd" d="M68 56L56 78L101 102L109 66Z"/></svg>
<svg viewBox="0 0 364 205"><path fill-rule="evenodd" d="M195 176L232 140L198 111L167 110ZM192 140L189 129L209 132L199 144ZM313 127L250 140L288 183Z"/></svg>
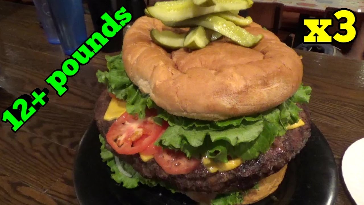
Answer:
<svg viewBox="0 0 364 205"><path fill-rule="evenodd" d="M99 132L95 122L84 134L74 165L74 186L81 205L194 205L189 197L163 187L126 189L110 178L100 158ZM311 137L300 154L288 164L276 192L254 205L333 205L338 174L332 151L324 136L311 125Z"/></svg>

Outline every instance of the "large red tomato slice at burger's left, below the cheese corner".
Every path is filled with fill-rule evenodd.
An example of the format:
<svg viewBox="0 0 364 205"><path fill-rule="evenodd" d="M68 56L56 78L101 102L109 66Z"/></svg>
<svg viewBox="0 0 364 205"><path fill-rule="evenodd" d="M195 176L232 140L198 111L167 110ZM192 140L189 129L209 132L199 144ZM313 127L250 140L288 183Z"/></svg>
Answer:
<svg viewBox="0 0 364 205"><path fill-rule="evenodd" d="M137 154L152 145L163 130L151 116L139 120L125 112L111 125L106 140L119 154Z"/></svg>

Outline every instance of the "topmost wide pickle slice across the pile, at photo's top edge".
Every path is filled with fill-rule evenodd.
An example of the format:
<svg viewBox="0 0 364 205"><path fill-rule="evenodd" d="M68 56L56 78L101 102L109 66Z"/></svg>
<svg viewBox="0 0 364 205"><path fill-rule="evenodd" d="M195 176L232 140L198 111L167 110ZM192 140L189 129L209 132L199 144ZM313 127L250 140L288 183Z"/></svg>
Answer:
<svg viewBox="0 0 364 205"><path fill-rule="evenodd" d="M213 0L215 1L215 0ZM168 3L170 2L170 3ZM193 0L167 1L148 7L151 16L162 21L182 21L197 16L230 10L241 10L250 8L248 0L219 0L216 5L201 7L193 3Z"/></svg>

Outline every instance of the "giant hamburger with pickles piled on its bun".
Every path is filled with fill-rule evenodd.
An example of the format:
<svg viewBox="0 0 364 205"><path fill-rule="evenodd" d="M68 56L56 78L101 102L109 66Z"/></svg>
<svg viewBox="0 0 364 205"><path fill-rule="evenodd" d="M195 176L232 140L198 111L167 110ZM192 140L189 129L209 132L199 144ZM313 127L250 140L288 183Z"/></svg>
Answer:
<svg viewBox="0 0 364 205"><path fill-rule="evenodd" d="M226 13L251 4L161 2L126 32L122 54L106 57L95 119L117 183L214 205L252 204L277 189L310 136L311 89L294 50Z"/></svg>

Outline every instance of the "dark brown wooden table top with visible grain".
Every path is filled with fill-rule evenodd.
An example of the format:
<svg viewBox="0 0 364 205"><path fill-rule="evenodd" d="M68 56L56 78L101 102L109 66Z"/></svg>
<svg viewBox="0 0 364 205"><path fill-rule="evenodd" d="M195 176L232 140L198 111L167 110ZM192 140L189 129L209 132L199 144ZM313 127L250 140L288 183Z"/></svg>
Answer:
<svg viewBox="0 0 364 205"><path fill-rule="evenodd" d="M87 16L86 22L91 29ZM364 137L364 63L298 53L303 56L304 84L313 89L312 121L328 140L340 169L344 151ZM99 53L68 79L69 91L60 98L44 79L64 59L61 47L47 42L34 7L0 0L0 111L37 87L50 90L48 104L16 134L8 123L0 123L0 204L78 204L72 167L104 89L95 72L106 69L106 63ZM351 204L342 181L337 204Z"/></svg>

